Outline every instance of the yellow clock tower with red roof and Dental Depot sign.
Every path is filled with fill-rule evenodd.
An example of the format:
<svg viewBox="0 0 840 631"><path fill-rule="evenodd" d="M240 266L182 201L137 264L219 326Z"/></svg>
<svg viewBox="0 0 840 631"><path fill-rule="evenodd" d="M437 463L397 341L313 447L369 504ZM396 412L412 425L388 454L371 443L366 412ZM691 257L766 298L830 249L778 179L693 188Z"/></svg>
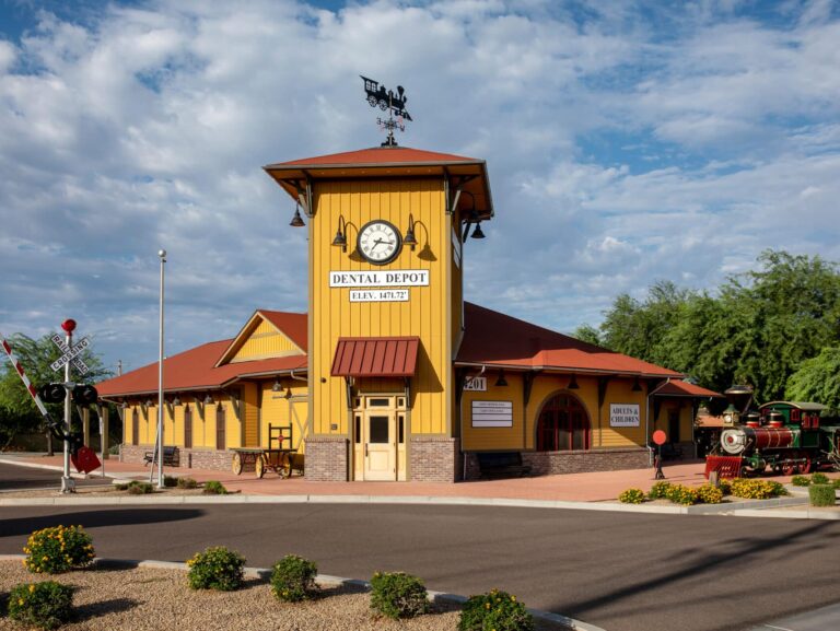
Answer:
<svg viewBox="0 0 840 631"><path fill-rule="evenodd" d="M380 147L265 167L308 231L306 477L454 481L465 239L481 160Z"/></svg>

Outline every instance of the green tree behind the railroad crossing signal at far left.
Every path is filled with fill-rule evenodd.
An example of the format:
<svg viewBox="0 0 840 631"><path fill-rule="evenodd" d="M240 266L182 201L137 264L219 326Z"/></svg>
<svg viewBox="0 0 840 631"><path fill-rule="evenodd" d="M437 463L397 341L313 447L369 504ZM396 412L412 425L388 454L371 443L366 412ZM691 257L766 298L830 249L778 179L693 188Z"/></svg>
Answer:
<svg viewBox="0 0 840 631"><path fill-rule="evenodd" d="M12 351L20 360L30 382L36 388L50 382L63 381L63 372L55 372L49 367L49 364L61 355L50 337L45 335L35 340L23 334L15 334L9 338ZM109 371L103 367L102 360L91 351L90 347L82 352L80 358L90 369L83 377L85 383L95 383L110 375ZM71 374L74 375L72 372ZM82 378L77 378L82 381ZM55 420L63 418L61 404L48 405L47 409ZM3 361L2 367L0 367L0 449L8 448L18 434L37 432L43 429L40 412L30 393L26 392L23 381L12 363Z"/></svg>

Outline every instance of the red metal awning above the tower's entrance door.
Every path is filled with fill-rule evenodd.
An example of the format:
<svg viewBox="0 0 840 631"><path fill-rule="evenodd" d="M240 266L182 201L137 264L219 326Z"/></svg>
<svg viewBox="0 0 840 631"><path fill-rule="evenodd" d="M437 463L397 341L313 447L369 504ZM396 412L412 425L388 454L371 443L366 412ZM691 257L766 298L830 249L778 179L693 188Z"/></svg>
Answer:
<svg viewBox="0 0 840 631"><path fill-rule="evenodd" d="M332 358L334 377L410 377L417 366L420 338L339 338Z"/></svg>

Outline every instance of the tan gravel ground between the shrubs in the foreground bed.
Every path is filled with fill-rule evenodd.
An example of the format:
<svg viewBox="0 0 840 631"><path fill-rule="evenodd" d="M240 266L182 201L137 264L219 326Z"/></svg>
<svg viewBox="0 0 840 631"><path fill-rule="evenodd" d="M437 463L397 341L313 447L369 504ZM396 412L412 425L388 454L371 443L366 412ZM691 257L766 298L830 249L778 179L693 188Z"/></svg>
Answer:
<svg viewBox="0 0 840 631"><path fill-rule="evenodd" d="M178 570L102 568L45 576L16 561L0 562L0 594L18 583L49 579L75 587L74 618L61 627L67 631L455 631L458 626L458 608L448 604L435 604L431 614L411 620L377 618L369 595L355 587L324 586L319 598L289 604L258 579L246 579L236 592L194 591ZM564 629L539 622L537 628ZM5 617L3 606L0 630L24 629Z"/></svg>

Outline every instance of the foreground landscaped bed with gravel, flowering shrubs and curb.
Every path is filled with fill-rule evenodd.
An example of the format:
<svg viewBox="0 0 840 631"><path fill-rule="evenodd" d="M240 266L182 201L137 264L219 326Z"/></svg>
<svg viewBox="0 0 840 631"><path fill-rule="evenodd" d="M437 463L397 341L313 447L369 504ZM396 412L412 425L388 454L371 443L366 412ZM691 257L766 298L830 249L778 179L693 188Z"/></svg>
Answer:
<svg viewBox="0 0 840 631"><path fill-rule="evenodd" d="M404 572L338 579L294 554L270 569L223 546L185 563L95 559L81 526L33 533L24 551L0 556L0 629L599 631L498 589L440 594Z"/></svg>

